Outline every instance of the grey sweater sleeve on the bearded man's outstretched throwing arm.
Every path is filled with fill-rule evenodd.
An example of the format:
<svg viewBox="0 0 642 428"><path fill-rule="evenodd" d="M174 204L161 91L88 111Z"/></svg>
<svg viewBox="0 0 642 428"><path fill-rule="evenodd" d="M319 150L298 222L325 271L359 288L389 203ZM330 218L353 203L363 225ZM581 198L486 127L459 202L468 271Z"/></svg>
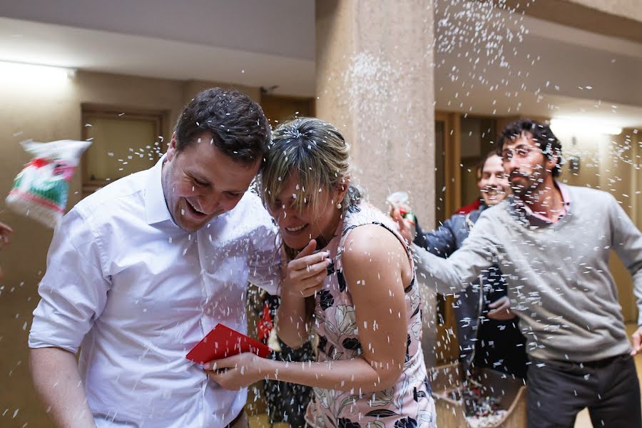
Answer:
<svg viewBox="0 0 642 428"><path fill-rule="evenodd" d="M491 221L481 215L459 250L444 259L413 245L417 276L425 285L434 285L444 295L464 290L482 271L499 258L498 246L491 239Z"/></svg>

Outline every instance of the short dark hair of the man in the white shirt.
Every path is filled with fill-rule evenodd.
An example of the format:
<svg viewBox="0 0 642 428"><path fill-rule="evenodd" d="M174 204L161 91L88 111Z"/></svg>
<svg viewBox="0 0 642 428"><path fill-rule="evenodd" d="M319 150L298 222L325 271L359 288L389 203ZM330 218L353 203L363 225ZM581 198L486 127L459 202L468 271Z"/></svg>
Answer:
<svg viewBox="0 0 642 428"><path fill-rule="evenodd" d="M183 108L174 126L176 151L195 143L203 132L212 134L211 143L225 156L245 165L263 159L270 143L270 126L258 103L223 88L206 89Z"/></svg>

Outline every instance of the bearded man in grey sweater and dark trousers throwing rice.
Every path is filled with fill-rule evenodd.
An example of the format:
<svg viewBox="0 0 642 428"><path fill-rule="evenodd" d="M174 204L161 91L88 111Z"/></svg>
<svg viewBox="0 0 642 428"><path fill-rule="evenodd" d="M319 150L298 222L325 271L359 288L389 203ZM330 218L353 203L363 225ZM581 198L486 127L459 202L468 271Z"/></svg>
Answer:
<svg viewBox="0 0 642 428"><path fill-rule="evenodd" d="M561 143L542 123L509 125L501 156L514 195L484 210L449 258L414 245L417 272L452 294L498 263L526 335L529 427L573 427L588 407L594 427L642 427L633 350L608 270L615 250L642 307L642 235L613 196L556 182Z"/></svg>

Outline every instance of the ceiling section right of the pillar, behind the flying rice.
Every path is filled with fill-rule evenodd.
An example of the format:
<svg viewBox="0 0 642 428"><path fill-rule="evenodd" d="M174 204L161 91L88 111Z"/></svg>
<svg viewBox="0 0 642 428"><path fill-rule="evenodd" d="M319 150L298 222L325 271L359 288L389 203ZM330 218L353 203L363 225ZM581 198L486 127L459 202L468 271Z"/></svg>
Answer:
<svg viewBox="0 0 642 428"><path fill-rule="evenodd" d="M642 126L640 43L465 0L437 2L435 34L439 110Z"/></svg>

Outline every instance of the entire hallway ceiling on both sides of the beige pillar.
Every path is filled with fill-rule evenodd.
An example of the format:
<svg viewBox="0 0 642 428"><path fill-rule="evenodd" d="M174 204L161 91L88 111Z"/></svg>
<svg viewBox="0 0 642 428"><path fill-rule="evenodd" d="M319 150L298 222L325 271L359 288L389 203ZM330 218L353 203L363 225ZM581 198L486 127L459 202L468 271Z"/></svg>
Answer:
<svg viewBox="0 0 642 428"><path fill-rule="evenodd" d="M462 34L472 25L479 32L488 25L487 13L501 21L489 31L504 36L482 40L471 33L453 49L437 45L436 108L483 115L593 115L617 126L642 125L642 44L489 12L480 3L436 3L437 41L445 37L445 46L453 37L447 31ZM507 34L515 37L509 40ZM314 0L1 2L0 40L4 61L315 94ZM493 41L503 61L489 63L498 54L487 49ZM474 52L484 67L472 66Z"/></svg>

